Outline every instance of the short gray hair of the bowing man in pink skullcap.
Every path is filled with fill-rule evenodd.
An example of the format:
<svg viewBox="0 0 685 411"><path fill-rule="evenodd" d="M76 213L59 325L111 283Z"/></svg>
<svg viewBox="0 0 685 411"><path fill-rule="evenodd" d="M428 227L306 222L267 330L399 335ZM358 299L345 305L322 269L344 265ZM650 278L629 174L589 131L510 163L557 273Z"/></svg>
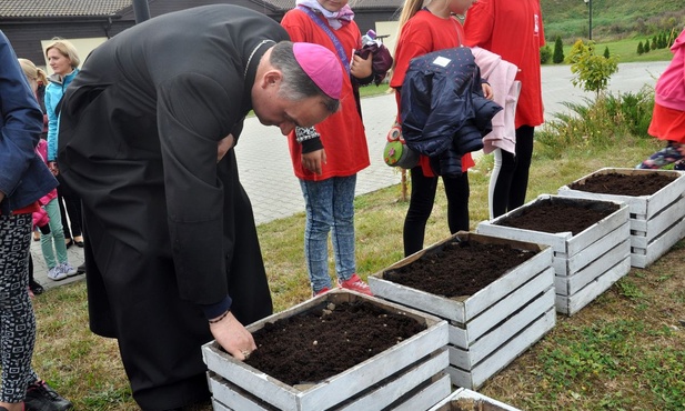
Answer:
<svg viewBox="0 0 685 411"><path fill-rule="evenodd" d="M338 111L340 100L325 94L302 70L293 54L293 43L291 41L278 42L271 50L269 62L283 73L279 97L296 101L321 96L329 112L334 113Z"/></svg>

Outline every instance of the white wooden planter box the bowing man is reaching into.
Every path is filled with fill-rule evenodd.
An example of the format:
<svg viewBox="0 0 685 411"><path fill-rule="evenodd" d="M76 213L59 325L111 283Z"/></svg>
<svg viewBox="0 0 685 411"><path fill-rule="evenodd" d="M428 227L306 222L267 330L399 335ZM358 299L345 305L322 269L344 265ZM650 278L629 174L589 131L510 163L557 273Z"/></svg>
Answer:
<svg viewBox="0 0 685 411"><path fill-rule="evenodd" d="M374 297L334 290L248 325L254 332L268 322L336 304L367 300L387 312L426 324L426 330L325 381L292 387L236 361L215 341L202 347L214 410L426 410L451 391L447 322Z"/></svg>

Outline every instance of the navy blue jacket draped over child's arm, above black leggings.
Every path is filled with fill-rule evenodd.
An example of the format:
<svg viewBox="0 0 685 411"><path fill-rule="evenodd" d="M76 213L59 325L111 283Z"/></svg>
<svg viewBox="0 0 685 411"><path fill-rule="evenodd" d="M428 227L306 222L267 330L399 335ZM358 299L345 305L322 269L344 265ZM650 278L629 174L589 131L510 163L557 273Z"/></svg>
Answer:
<svg viewBox="0 0 685 411"><path fill-rule="evenodd" d="M471 49L434 51L410 62L402 83L402 134L406 146L431 158L440 176L461 174L461 157L483 148L502 108L483 97Z"/></svg>

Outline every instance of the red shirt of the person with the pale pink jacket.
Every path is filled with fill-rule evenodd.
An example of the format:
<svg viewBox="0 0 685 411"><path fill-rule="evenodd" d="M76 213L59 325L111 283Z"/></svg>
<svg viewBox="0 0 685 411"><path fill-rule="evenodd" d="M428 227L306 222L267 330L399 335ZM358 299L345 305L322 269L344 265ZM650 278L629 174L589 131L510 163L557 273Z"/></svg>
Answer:
<svg viewBox="0 0 685 411"><path fill-rule="evenodd" d="M490 50L516 64L521 94L516 106L516 128L544 121L540 73L540 48L545 32L538 0L487 0L474 3L464 23L466 44Z"/></svg>

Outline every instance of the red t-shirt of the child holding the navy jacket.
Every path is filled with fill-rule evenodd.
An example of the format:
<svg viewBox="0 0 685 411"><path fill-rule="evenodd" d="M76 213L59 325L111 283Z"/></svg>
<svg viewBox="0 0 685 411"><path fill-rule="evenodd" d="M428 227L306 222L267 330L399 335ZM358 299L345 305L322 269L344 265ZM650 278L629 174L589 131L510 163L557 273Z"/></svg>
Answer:
<svg viewBox="0 0 685 411"><path fill-rule="evenodd" d="M454 18L443 19L427 10L419 10L402 27L395 49L395 68L390 87L400 88L404 81L410 61L433 51L452 49L465 41L464 29ZM400 111L400 92L396 93L397 112ZM434 177L429 158L421 156L421 169L426 177ZM467 171L475 164L471 153L462 157L462 171Z"/></svg>

